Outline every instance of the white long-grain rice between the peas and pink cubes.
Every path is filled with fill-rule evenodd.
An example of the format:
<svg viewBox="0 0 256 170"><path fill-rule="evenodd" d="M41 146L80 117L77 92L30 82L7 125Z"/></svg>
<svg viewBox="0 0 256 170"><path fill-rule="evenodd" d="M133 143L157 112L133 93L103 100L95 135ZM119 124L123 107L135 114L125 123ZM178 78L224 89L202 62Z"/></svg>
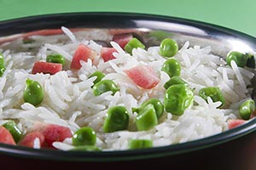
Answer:
<svg viewBox="0 0 256 170"><path fill-rule="evenodd" d="M93 127L97 134L96 145L102 150L126 150L130 139L152 139L154 146L183 143L195 139L205 138L227 130L229 119L240 118L237 112L244 99L250 98L252 89L247 85L252 79L253 72L239 68L236 62L227 66L220 56L211 54L211 47L189 47L185 42L174 56L182 65L181 77L194 89L195 104L187 109L182 116L172 116L165 113L159 125L143 132L135 131L134 118L131 108L137 108L143 101L157 98L163 101L165 88L163 85L169 77L161 71L165 58L160 56L159 47L150 47L148 50L138 48L132 55L125 53L116 42L110 42L117 53L116 59L103 62L100 57L102 45L90 39L76 37L67 28L62 27L67 35L47 37L35 36L36 44L40 46L36 54L17 53L14 50L2 50L7 69L0 78L0 122L15 119L23 132L33 126L33 122L48 122L70 127L75 132L79 127ZM68 38L69 40L67 40ZM58 38L66 41L57 41ZM52 40L51 40L52 39ZM79 43L84 43L96 50L98 55L92 62L81 61L79 71L68 71L75 49ZM22 41L11 42L6 47L18 46L27 49ZM50 76L49 74L32 75L32 65L36 60L45 60L48 54L61 54L67 59L65 71ZM36 58L36 59L34 59ZM22 65L20 63L22 62ZM126 77L124 70L135 65L149 65L160 77L159 84L153 89L138 88ZM111 79L119 86L119 92L114 95L107 92L95 96L90 88L96 77L91 77L94 71L106 74L104 79ZM38 81L44 88L44 100L38 107L24 103L23 90L27 78ZM219 87L224 94L226 105L218 109L220 102L213 103L201 99L198 92L207 86ZM114 105L124 105L130 112L128 130L114 133L103 133L102 124L108 108ZM73 148L71 140L55 142L55 148L70 150ZM35 140L34 148L39 149L39 139Z"/></svg>

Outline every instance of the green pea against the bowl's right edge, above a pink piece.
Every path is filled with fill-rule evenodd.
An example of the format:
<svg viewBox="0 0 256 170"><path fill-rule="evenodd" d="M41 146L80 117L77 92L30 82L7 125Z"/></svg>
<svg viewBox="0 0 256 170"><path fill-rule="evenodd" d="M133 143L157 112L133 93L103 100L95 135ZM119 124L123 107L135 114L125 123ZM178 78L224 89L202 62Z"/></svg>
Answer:
<svg viewBox="0 0 256 170"><path fill-rule="evenodd" d="M247 99L239 106L239 115L242 119L249 120L254 110L255 103L253 99Z"/></svg>

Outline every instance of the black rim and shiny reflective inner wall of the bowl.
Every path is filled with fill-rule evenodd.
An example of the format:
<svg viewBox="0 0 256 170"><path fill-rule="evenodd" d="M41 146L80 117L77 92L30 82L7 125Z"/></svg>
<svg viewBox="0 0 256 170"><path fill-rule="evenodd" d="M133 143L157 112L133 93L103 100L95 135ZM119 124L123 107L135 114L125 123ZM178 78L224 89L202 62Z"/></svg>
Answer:
<svg viewBox="0 0 256 170"><path fill-rule="evenodd" d="M99 42L107 42L108 38L120 32L132 32L148 46L159 44L164 37L172 37L182 45L190 41L197 44L212 46L213 54L225 56L230 50L245 53L256 51L256 38L239 31L222 26L215 26L195 20L184 20L168 16L153 14L131 13L72 13L48 14L7 20L0 22L0 42L9 42L19 37L40 35L45 30L53 30L53 34L60 33L61 26L73 31L87 31L89 37L97 31ZM207 150L220 144L229 143L236 139L247 139L247 135L255 132L256 119L247 122L224 133L219 133L205 139L198 139L183 144L155 147L144 150L121 150L102 152L33 150L24 147L0 144L0 153L9 156L21 156L40 160L55 161L136 161L167 156L189 156L198 150ZM236 146L234 146L236 147Z"/></svg>

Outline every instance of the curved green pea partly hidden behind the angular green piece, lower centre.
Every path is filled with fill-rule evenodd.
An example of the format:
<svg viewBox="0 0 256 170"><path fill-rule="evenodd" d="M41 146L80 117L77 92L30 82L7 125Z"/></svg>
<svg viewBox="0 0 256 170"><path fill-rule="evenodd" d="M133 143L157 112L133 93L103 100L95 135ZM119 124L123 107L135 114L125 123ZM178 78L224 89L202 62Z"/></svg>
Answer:
<svg viewBox="0 0 256 170"><path fill-rule="evenodd" d="M157 118L160 119L160 117L164 113L164 105L161 103L160 99L148 99L145 102L143 102L140 108L142 109L143 107L149 104L154 105L155 114Z"/></svg>

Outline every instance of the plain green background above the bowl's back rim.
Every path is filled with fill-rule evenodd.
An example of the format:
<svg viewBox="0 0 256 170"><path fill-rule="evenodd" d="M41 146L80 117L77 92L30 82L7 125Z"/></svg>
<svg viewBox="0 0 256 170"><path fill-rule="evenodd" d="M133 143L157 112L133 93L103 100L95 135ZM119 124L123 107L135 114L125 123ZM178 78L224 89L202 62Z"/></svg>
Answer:
<svg viewBox="0 0 256 170"><path fill-rule="evenodd" d="M256 37L256 0L0 0L0 20L70 12L135 12L200 20Z"/></svg>

